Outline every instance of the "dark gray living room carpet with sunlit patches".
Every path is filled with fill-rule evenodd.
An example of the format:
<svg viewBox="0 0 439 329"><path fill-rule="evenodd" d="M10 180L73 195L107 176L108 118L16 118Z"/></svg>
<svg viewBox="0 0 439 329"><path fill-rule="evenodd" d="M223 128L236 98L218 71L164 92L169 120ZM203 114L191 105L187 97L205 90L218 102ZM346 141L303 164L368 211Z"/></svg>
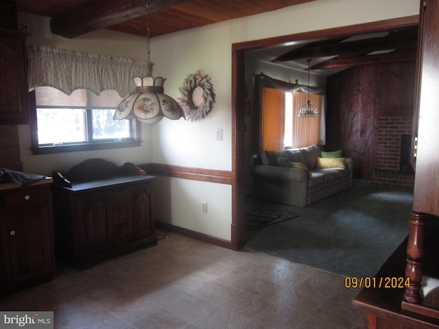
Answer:
<svg viewBox="0 0 439 329"><path fill-rule="evenodd" d="M410 190L364 180L306 208L248 199L298 217L246 233L246 247L344 276L373 276L409 233L412 201Z"/></svg>

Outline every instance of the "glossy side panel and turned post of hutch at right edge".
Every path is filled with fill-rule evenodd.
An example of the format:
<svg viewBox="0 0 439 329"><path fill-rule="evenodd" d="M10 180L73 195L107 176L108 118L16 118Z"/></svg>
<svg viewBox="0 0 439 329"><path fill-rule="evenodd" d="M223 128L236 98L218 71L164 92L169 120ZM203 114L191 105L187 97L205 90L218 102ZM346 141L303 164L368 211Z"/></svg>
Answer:
<svg viewBox="0 0 439 329"><path fill-rule="evenodd" d="M430 239L439 239L434 230L439 221L439 1L421 1L418 125L416 145L416 175L411 228L407 245L406 276L410 288L405 291L402 308L439 319L439 303L425 306L427 298L421 292L424 276L439 278L436 250L429 250ZM429 223L431 222L431 223ZM433 234L431 234L433 233ZM439 291L436 293L439 298Z"/></svg>

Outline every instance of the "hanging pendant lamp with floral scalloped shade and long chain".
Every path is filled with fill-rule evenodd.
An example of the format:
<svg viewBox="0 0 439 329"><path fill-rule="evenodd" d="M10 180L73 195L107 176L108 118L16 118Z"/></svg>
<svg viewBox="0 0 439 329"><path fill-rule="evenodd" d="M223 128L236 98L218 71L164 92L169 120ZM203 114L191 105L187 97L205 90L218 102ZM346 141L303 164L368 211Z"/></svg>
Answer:
<svg viewBox="0 0 439 329"><path fill-rule="evenodd" d="M133 77L134 93L128 95L119 103L113 119L137 118L147 125L155 125L163 117L171 120L185 118L185 112L180 104L165 94L163 83L165 78L152 77L151 44L150 44L150 8L146 2L146 38L147 38L147 74L145 77Z"/></svg>

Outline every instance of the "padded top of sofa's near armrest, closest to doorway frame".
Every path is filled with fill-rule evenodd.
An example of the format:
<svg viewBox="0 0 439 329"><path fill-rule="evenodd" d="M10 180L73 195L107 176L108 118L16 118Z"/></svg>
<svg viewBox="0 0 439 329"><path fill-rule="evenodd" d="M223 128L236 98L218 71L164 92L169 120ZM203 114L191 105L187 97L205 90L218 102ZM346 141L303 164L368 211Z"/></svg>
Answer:
<svg viewBox="0 0 439 329"><path fill-rule="evenodd" d="M254 178L282 182L308 182L308 173L305 169L285 168L269 165L256 165L252 168Z"/></svg>

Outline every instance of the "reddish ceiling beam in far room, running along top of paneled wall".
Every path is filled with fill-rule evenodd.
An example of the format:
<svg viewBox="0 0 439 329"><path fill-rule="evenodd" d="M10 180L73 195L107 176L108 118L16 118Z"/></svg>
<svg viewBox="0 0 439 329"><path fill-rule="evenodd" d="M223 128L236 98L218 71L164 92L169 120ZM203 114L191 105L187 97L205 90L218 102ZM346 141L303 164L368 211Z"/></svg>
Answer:
<svg viewBox="0 0 439 329"><path fill-rule="evenodd" d="M388 62L403 62L407 60L416 60L416 49L404 49L392 51L392 53L382 53L370 56L359 56L355 58L333 58L319 64L311 66L311 70L320 69L337 69L348 66L381 64Z"/></svg>

